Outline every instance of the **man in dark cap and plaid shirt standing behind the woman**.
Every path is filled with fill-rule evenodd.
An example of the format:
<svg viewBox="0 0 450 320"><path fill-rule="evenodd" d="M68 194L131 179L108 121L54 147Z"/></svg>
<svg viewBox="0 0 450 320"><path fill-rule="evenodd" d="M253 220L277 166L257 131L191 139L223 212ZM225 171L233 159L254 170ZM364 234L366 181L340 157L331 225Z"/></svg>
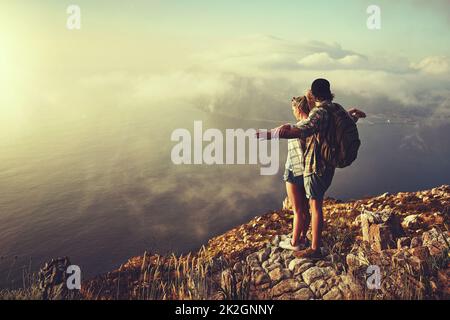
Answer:
<svg viewBox="0 0 450 320"><path fill-rule="evenodd" d="M312 243L310 248L296 253L296 256L314 259L321 256L323 199L335 172L335 167L324 161L321 156L324 137L332 128L330 125L332 117L325 107L332 103L334 95L331 93L330 83L327 80L317 79L313 82L307 96L313 105L308 118L296 126L281 126L275 132L282 139L306 139L303 177L311 211ZM357 109L351 109L349 114L355 122L358 118L365 117L365 114Z"/></svg>

